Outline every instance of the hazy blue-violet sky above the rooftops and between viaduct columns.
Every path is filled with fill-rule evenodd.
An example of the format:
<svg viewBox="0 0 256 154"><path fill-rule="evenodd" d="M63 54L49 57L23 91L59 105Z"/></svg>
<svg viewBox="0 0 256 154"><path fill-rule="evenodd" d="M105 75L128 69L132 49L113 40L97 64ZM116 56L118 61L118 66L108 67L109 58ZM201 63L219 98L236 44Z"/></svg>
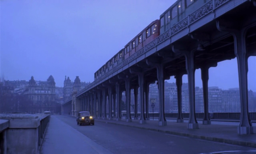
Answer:
<svg viewBox="0 0 256 154"><path fill-rule="evenodd" d="M175 1L3 0L1 76L44 81L52 75L58 87L63 87L65 76L92 82L103 64ZM256 57L248 64L248 89L256 91ZM200 72L196 70L196 86L202 87ZM171 77L169 82L174 81ZM210 68L210 86L239 87L237 60Z"/></svg>

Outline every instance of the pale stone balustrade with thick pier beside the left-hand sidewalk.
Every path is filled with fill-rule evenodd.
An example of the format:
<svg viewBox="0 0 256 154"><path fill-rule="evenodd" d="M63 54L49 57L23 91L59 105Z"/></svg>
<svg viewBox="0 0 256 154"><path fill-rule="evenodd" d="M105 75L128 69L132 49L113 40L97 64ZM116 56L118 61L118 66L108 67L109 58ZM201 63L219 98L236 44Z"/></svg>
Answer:
<svg viewBox="0 0 256 154"><path fill-rule="evenodd" d="M38 154L51 112L0 114L0 154Z"/></svg>

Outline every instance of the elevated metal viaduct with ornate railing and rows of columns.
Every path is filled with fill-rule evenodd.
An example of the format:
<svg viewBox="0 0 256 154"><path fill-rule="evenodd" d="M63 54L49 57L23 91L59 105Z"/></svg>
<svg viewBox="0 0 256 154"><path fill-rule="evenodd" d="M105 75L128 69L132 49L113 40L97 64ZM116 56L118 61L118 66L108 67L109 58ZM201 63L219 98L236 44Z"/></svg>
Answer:
<svg viewBox="0 0 256 154"><path fill-rule="evenodd" d="M201 8L178 22L164 34L128 59L107 70L83 90L73 92L73 98L62 105L62 112L73 116L90 111L98 118L121 120L122 92L126 94L127 116L131 122L131 89L134 89L135 106L140 87L140 117L135 107L135 119L146 123L148 116L149 84L157 81L159 90L159 126L166 126L164 112L164 80L175 76L178 95L177 122L181 114L182 76L188 75L189 122L188 129L198 129L195 117L195 70L201 69L204 90L204 124L210 124L208 114L208 70L217 63L237 58L241 101L241 118L238 134L253 134L248 113L247 72L249 56L256 56L256 1L209 0ZM227 70L228 71L228 70ZM107 96L109 105L106 105ZM113 105L113 106L112 106ZM117 106L117 111L116 111ZM108 114L114 110L113 115ZM117 115L116 115L117 112Z"/></svg>

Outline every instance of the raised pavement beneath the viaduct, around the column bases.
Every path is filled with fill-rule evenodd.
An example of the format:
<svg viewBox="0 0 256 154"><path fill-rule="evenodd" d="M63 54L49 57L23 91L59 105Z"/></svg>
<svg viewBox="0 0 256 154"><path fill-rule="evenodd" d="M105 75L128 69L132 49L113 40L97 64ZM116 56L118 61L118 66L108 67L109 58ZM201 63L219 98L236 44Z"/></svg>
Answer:
<svg viewBox="0 0 256 154"><path fill-rule="evenodd" d="M176 123L167 121L167 126L158 126L158 121L147 120L147 123L140 124L139 120L132 120L133 122L125 122L114 120L95 119L97 122L112 123L123 126L130 126L140 129L148 129L151 131L164 132L179 136L193 137L202 140L209 140L221 143L228 143L239 146L248 146L256 148L256 134L252 135L238 135L237 126L232 125L203 125L199 123L199 129L187 129L187 123ZM256 126L254 126L254 133L256 133Z"/></svg>

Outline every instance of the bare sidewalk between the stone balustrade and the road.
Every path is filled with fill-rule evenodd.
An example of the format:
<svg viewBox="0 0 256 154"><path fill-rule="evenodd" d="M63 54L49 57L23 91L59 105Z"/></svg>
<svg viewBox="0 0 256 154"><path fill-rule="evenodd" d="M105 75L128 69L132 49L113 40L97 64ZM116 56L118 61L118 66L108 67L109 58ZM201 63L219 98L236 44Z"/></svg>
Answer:
<svg viewBox="0 0 256 154"><path fill-rule="evenodd" d="M51 116L40 154L112 154L68 124Z"/></svg>

